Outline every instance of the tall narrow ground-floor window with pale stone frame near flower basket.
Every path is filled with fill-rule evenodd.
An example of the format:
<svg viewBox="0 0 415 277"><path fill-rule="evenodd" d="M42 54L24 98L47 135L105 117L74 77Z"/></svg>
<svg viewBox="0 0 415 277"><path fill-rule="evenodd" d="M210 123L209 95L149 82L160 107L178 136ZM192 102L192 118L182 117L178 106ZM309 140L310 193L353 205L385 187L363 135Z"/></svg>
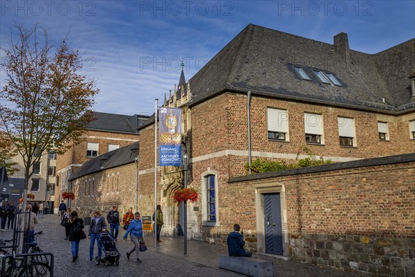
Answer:
<svg viewBox="0 0 415 277"><path fill-rule="evenodd" d="M217 172L208 170L202 173L202 188L202 224L216 226L219 222Z"/></svg>

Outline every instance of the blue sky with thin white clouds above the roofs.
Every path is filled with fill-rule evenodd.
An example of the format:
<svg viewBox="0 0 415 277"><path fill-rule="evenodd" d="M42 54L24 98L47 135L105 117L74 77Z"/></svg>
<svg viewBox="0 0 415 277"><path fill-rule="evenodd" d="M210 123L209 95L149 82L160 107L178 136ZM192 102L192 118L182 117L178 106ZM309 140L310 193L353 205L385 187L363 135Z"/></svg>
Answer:
<svg viewBox="0 0 415 277"><path fill-rule="evenodd" d="M68 35L100 89L94 111L152 114L181 60L188 80L248 24L330 44L344 32L351 49L378 53L415 37L415 1L1 0L3 48L14 23L39 23L55 43Z"/></svg>

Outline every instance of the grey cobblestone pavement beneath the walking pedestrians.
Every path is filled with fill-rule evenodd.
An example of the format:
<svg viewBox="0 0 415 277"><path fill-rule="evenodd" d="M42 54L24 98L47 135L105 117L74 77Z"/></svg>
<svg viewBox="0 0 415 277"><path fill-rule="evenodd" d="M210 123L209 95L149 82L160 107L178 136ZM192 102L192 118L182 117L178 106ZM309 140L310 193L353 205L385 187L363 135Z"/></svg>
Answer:
<svg viewBox="0 0 415 277"><path fill-rule="evenodd" d="M64 227L59 225L57 215L44 215L39 218L35 231L44 231L38 241L40 247L55 256L54 276L243 276L230 271L219 269L219 255L227 255L228 249L207 242L187 240L187 255L184 255L183 237L162 237L157 247L154 247L154 236L145 235L148 250L140 253L142 263L136 262L135 253L127 260L126 252L131 249L132 242L122 240L124 230L120 229L117 248L121 253L120 265L95 265L89 262L89 240L81 240L80 258L72 262L71 243L64 240ZM88 228L89 226L86 226ZM0 233L0 238L12 238L12 231ZM95 244L95 256L98 251ZM352 277L354 274L304 265L291 260L282 260L264 255L257 258L273 260L274 274L279 277Z"/></svg>

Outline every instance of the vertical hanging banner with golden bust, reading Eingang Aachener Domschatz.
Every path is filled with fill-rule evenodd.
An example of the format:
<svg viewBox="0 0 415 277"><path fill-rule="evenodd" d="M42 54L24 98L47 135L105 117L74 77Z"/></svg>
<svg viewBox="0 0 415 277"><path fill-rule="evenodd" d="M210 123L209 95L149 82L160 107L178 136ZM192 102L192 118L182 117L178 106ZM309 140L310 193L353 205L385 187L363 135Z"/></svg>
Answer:
<svg viewBox="0 0 415 277"><path fill-rule="evenodd" d="M178 108L160 107L159 111L159 166L182 166L181 159L181 117Z"/></svg>

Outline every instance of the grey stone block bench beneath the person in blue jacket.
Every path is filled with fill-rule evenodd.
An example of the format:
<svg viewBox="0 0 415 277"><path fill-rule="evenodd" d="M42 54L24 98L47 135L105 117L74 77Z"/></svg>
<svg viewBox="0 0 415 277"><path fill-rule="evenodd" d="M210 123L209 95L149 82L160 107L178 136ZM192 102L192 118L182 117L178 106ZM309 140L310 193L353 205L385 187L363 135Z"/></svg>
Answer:
<svg viewBox="0 0 415 277"><path fill-rule="evenodd" d="M248 276L272 277L273 262L248 257L219 256L219 268Z"/></svg>

